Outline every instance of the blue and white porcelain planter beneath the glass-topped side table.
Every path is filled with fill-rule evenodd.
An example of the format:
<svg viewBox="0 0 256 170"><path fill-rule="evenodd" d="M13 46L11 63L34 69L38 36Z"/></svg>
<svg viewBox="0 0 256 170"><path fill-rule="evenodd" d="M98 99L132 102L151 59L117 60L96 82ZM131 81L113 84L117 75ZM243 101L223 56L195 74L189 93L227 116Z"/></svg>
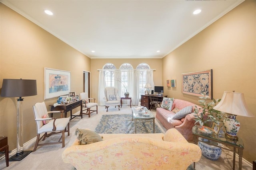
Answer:
<svg viewBox="0 0 256 170"><path fill-rule="evenodd" d="M199 138L200 141L208 141L207 139ZM210 143L220 146L220 143L210 141ZM208 145L207 143L198 142L198 146L202 150L202 155L210 160L218 160L221 155L221 148Z"/></svg>

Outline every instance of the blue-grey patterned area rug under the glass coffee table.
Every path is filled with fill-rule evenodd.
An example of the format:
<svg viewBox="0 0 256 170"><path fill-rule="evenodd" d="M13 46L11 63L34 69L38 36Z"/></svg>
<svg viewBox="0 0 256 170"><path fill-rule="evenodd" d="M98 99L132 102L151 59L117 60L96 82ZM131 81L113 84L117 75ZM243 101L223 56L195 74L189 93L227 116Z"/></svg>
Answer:
<svg viewBox="0 0 256 170"><path fill-rule="evenodd" d="M156 122L156 121L155 121ZM96 133L135 133L135 120L132 114L102 115ZM153 133L152 120L137 120L136 133ZM155 123L155 133L164 133Z"/></svg>

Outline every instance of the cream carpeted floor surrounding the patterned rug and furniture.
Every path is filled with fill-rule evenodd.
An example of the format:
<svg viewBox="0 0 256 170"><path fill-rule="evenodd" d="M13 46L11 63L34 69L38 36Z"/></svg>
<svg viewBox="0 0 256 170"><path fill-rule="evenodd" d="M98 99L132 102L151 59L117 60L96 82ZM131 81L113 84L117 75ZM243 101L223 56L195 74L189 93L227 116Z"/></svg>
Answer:
<svg viewBox="0 0 256 170"><path fill-rule="evenodd" d="M64 148L61 147L61 144L45 145L38 147L35 152L30 153L23 160L9 162L9 167L7 168L5 164L5 159L3 158L0 160L0 170L74 170L74 167L72 165L63 162L61 154L67 147L70 147L76 140L76 136L74 135L75 129L82 128L95 130L100 122L100 119L102 118L102 115L131 115L131 113L132 109L130 108L130 106L123 105L123 107L120 108L120 111L115 107L109 107L108 112L106 112L104 106L98 106L98 114L92 113L90 118L88 117L88 115L84 115L83 119L77 117L70 121L70 136L67 136L67 134L65 134ZM152 109L152 114L156 115L155 109ZM155 119L155 121L159 129L165 132L166 129L161 125L161 123L159 123L157 119ZM26 133L26 131L24 131L24 133ZM52 136L46 139L45 142L54 140L58 141L59 137L59 135ZM24 144L24 150L32 150L33 148L34 143L32 143L31 145L26 145L26 143ZM10 156L12 156L15 153L16 152L12 152ZM196 170L232 170L232 160L233 154L231 152L223 150L221 157L217 161L209 160L202 156L200 161L196 162ZM192 168L192 166L190 166L190 168ZM235 169L238 170L238 157L236 157ZM252 170L252 165L247 164L247 162L243 161L242 170Z"/></svg>

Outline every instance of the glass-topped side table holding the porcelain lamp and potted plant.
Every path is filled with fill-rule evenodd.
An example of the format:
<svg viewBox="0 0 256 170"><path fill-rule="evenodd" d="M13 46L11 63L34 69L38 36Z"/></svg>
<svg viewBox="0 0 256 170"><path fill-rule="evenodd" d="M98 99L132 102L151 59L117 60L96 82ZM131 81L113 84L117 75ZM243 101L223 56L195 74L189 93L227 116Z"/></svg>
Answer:
<svg viewBox="0 0 256 170"><path fill-rule="evenodd" d="M223 145L232 147L233 150L224 148L224 147L219 147L217 145L209 144L209 145L213 145L215 147L219 147L219 148L226 149L226 150L233 152L233 170L235 169L236 153L238 153L239 170L242 170L242 156L243 156L243 149L244 149L244 143L243 143L242 139L238 138L238 141L232 141L230 139L226 139L225 134L216 135L215 133L213 133L211 135L206 135L206 134L203 134L200 131L198 131L197 126L194 126L192 128L192 133L193 133L193 137L194 137L194 143L196 145L198 144L198 141L200 141L200 140L198 140L198 138L201 137L204 139L208 139L210 141L218 142ZM203 142L203 141L200 141L200 142ZM203 143L207 143L207 142L203 142ZM238 149L238 151L236 151L237 149ZM194 166L195 166L195 164L194 164Z"/></svg>

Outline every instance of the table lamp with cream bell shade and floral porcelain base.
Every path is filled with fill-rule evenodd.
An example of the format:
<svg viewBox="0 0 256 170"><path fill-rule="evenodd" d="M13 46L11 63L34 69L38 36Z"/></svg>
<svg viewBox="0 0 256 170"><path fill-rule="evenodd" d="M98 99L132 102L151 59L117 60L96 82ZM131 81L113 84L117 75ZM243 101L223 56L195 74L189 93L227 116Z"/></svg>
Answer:
<svg viewBox="0 0 256 170"><path fill-rule="evenodd" d="M236 116L254 117L246 106L244 94L234 91L224 92L220 102L213 109L227 113L228 116L223 120L225 135L234 141L238 140L237 133L240 129Z"/></svg>

